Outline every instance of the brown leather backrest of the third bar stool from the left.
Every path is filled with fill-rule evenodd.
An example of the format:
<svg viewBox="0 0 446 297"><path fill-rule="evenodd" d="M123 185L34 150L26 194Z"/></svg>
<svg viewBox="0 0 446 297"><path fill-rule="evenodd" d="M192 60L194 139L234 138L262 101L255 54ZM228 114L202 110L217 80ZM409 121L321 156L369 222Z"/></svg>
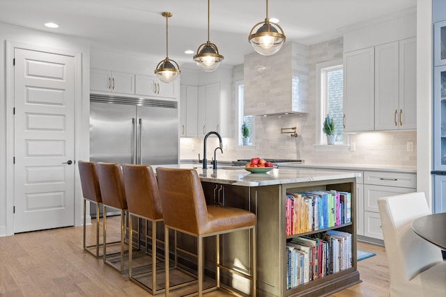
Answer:
<svg viewBox="0 0 446 297"><path fill-rule="evenodd" d="M151 220L162 219L160 191L150 165L123 164L128 211Z"/></svg>

